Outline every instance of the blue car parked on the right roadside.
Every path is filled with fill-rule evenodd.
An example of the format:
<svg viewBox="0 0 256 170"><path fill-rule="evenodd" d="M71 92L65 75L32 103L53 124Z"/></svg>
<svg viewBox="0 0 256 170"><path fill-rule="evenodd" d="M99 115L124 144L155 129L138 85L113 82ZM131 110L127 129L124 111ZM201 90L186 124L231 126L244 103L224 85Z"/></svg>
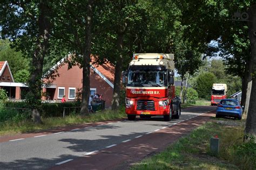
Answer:
<svg viewBox="0 0 256 170"><path fill-rule="evenodd" d="M242 118L242 107L238 100L226 98L220 101L216 110L216 117L228 116L239 120Z"/></svg>

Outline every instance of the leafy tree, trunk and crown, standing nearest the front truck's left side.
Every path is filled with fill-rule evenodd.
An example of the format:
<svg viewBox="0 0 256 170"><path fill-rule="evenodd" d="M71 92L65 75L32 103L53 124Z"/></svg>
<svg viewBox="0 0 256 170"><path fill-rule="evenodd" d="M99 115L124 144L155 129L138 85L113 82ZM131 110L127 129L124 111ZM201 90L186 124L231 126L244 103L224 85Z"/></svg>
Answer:
<svg viewBox="0 0 256 170"><path fill-rule="evenodd" d="M92 51L99 60L106 58L115 66L112 110L116 110L120 106L123 67L127 68L132 53L138 47L138 34L145 26L144 9L138 1L104 1L97 6Z"/></svg>

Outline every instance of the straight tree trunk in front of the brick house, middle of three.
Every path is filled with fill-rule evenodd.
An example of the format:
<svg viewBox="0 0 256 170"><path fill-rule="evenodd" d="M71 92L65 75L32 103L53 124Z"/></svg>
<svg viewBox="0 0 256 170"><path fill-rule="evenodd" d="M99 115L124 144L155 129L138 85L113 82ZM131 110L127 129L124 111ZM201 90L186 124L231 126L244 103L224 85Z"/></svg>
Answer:
<svg viewBox="0 0 256 170"><path fill-rule="evenodd" d="M93 0L87 3L87 20L85 33L85 47L83 52L83 88L82 88L82 103L80 114L89 114L89 97L90 97L90 61L91 61L91 19L92 19L92 4Z"/></svg>

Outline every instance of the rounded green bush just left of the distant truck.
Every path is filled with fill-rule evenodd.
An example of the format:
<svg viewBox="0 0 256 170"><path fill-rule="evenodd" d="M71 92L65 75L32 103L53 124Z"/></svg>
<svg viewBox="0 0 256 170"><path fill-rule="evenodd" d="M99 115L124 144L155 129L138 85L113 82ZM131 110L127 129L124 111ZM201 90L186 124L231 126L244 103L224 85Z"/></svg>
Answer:
<svg viewBox="0 0 256 170"><path fill-rule="evenodd" d="M212 84L218 82L216 76L213 73L205 72L197 77L194 89L197 90L198 97L210 99Z"/></svg>

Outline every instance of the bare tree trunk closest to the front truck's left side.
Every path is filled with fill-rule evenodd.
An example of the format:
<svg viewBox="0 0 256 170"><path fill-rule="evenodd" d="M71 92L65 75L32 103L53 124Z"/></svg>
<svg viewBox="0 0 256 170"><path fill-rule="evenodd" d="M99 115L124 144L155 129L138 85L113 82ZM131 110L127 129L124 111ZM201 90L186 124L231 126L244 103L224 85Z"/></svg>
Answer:
<svg viewBox="0 0 256 170"><path fill-rule="evenodd" d="M120 81L121 81L121 73L123 68L123 40L124 34L118 33L117 37L117 49L119 52L119 58L116 63L116 67L114 69L114 89L113 89L113 100L112 100L112 110L117 110L120 105Z"/></svg>

